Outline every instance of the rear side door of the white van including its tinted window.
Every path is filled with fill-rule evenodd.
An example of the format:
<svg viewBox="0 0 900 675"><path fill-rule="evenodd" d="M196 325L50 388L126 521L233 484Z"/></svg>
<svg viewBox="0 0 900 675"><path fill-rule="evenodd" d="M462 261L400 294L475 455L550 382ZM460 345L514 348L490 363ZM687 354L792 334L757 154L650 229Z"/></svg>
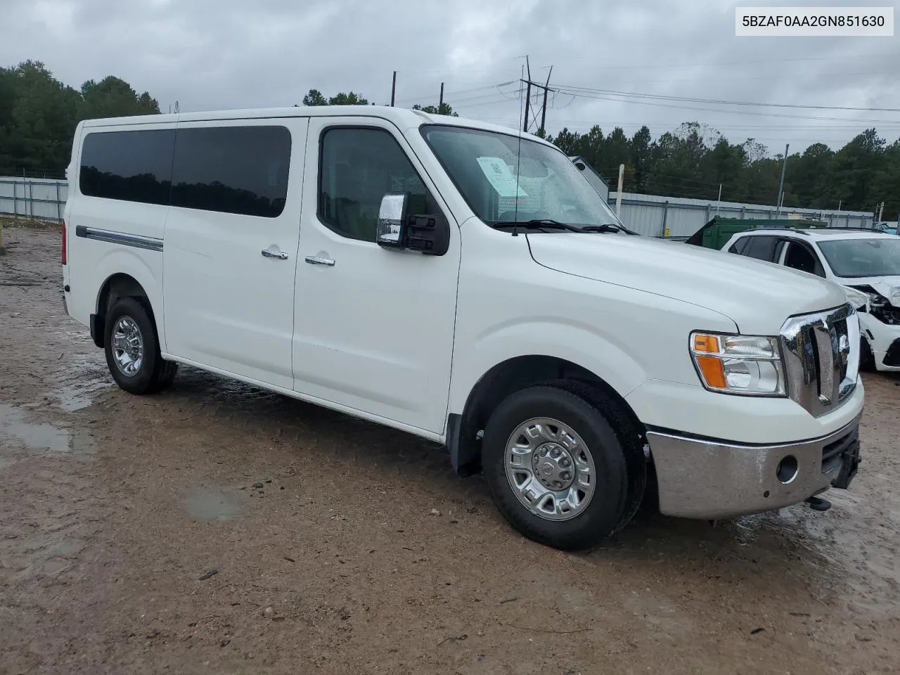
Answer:
<svg viewBox="0 0 900 675"><path fill-rule="evenodd" d="M180 122L166 221L166 351L293 388L308 120Z"/></svg>

